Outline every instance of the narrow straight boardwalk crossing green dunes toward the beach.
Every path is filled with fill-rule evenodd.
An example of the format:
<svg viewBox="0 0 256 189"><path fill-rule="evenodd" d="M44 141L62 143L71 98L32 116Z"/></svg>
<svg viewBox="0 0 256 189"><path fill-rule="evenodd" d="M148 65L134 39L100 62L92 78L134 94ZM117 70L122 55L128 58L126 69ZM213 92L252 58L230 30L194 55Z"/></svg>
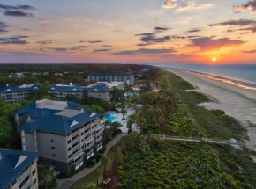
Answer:
<svg viewBox="0 0 256 189"><path fill-rule="evenodd" d="M170 141L184 141L184 142L209 142L209 143L219 143L219 144L230 144L235 146L243 146L242 142L236 141L227 141L227 140L215 140L215 139L207 139L207 138L197 138L197 137L182 137L182 136L166 136L166 135L158 135L151 134L150 138L160 139L160 140L170 140Z"/></svg>

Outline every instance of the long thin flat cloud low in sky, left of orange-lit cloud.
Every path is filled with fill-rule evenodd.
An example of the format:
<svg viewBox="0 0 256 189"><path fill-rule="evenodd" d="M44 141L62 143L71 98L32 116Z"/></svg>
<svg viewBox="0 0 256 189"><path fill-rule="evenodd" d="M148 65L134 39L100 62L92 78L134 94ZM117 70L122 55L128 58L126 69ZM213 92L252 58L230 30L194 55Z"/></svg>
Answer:
<svg viewBox="0 0 256 189"><path fill-rule="evenodd" d="M143 55L153 54L162 55L176 52L174 49L162 49L162 48L139 48L138 50L126 50L113 53L113 55Z"/></svg>

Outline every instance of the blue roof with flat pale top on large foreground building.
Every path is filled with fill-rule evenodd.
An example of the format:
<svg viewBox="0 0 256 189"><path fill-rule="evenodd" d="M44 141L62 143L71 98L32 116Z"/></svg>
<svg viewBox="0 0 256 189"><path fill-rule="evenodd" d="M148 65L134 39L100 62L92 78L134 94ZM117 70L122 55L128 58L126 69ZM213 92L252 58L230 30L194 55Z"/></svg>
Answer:
<svg viewBox="0 0 256 189"><path fill-rule="evenodd" d="M72 101L64 102L48 99L26 105L15 111L14 114L24 114L35 118L34 121L19 126L19 131L41 130L58 134L69 134L72 130L102 115L102 113L88 110Z"/></svg>

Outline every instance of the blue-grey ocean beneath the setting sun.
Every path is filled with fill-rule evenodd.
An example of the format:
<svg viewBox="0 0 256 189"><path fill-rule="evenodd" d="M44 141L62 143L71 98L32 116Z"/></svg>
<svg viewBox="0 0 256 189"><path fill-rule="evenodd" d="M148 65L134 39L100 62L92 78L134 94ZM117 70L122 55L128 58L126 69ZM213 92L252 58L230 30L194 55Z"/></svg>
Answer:
<svg viewBox="0 0 256 189"><path fill-rule="evenodd" d="M256 65L252 64L158 64L155 66L192 70L200 73L227 77L250 84L256 84Z"/></svg>

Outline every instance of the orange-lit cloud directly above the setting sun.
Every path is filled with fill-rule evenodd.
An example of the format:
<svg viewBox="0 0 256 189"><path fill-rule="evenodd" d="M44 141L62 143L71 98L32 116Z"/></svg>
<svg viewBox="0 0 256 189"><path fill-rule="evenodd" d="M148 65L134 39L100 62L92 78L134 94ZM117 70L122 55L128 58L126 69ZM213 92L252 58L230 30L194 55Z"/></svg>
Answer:
<svg viewBox="0 0 256 189"><path fill-rule="evenodd" d="M236 47L245 43L242 40L230 40L229 38L212 39L209 37L192 38L192 45L199 47L202 51L220 49L222 47Z"/></svg>

